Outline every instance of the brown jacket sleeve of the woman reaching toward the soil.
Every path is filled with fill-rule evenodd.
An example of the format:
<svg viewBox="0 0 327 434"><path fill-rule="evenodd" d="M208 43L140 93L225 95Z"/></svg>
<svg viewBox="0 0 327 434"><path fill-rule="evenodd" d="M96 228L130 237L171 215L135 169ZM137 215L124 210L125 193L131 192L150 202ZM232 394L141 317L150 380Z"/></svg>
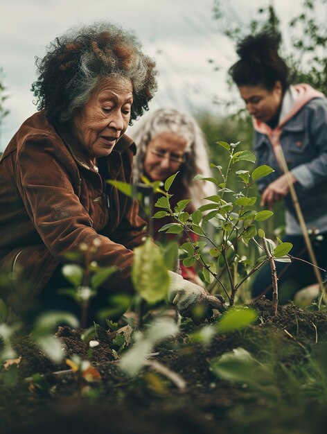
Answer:
<svg viewBox="0 0 327 434"><path fill-rule="evenodd" d="M67 262L65 255L77 250L80 243L92 245L98 240L93 259L99 266L117 267L104 286L132 291L132 250L98 234L92 227L78 196L78 169L69 162L67 149L55 141L34 136L21 147L17 157L15 177L28 216L46 248L61 263Z"/></svg>

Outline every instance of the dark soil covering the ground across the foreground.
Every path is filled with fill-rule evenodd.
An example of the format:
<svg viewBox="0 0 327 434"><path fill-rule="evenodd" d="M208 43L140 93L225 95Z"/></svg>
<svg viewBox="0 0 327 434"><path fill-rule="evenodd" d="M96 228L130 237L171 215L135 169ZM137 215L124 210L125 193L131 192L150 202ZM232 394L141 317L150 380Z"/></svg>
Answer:
<svg viewBox="0 0 327 434"><path fill-rule="evenodd" d="M190 333L201 327L185 322L175 340L155 349L159 354L154 358L180 374L186 390L148 368L136 379L127 379L114 361L115 333L104 329L98 330L100 345L91 355L80 339L81 331L68 327L58 331L67 357L77 354L88 359L100 373L101 378L91 383L71 372L54 374L69 367L53 365L29 338L17 340L21 361L10 369L18 380L15 385L0 384L0 433L325 433L327 370L303 396L304 379L300 376L291 390L285 372L299 367L302 370L296 372L303 372L312 356L324 351L327 313L286 306L279 307L275 316L264 299L254 307L256 324L217 334L207 347L190 342ZM263 363L274 363L277 394L274 388L269 391L271 385L262 392L215 376L211 362L238 347ZM30 378L37 373L41 379Z"/></svg>

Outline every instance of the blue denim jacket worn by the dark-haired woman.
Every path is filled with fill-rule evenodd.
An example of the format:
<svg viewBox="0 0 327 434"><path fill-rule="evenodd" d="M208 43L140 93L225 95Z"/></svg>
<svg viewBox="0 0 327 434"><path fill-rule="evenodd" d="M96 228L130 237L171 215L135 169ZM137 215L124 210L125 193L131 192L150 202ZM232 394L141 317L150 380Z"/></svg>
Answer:
<svg viewBox="0 0 327 434"><path fill-rule="evenodd" d="M327 98L314 98L283 125L280 144L288 168L297 182L294 184L306 222L327 216ZM272 150L267 134L255 132L254 152L258 166L267 164L274 173L258 180L263 192L268 184L283 173ZM288 211L295 216L290 193L285 198Z"/></svg>

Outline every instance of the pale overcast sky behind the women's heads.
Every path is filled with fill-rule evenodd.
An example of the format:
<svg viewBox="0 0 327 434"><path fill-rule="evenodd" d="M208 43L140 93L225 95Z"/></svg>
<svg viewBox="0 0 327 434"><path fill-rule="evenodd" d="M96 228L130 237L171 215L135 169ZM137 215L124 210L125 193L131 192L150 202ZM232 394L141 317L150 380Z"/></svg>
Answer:
<svg viewBox="0 0 327 434"><path fill-rule="evenodd" d="M268 1L226 3L231 19L248 19ZM285 17L294 14L296 4L301 0L274 0L277 12ZM71 26L98 19L134 30L145 53L157 61L159 92L150 110L177 107L218 114L219 105L212 101L228 95L226 71L236 54L218 32L213 0L1 0L0 68L10 114L1 129L0 150L36 111L30 92L36 78L35 55L42 57L45 46Z"/></svg>

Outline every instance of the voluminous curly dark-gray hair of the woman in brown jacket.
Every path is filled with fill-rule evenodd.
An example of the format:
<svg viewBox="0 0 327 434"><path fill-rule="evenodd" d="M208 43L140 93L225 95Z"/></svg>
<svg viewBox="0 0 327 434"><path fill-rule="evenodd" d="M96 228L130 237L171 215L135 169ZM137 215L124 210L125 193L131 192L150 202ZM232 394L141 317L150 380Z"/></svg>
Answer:
<svg viewBox="0 0 327 434"><path fill-rule="evenodd" d="M103 78L130 78L132 120L148 110L157 90L155 62L141 51L134 33L97 21L74 27L55 38L44 58L36 58L38 78L32 85L37 109L49 120L64 122L83 107Z"/></svg>

